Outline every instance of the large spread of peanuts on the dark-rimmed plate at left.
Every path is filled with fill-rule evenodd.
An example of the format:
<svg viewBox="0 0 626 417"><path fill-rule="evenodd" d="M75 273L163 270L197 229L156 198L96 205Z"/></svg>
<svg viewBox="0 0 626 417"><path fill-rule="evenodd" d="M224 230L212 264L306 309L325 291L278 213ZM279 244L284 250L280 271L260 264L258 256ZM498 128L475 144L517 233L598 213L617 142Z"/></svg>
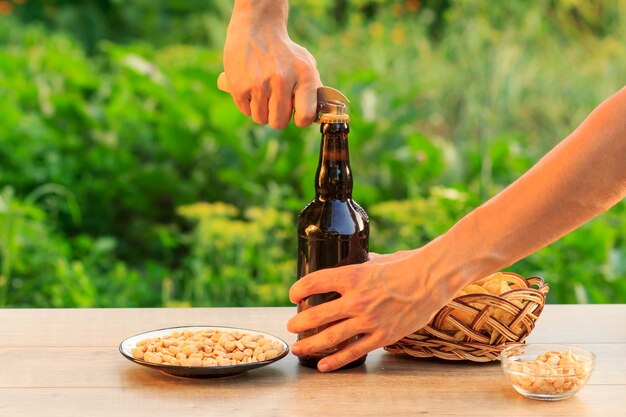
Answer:
<svg viewBox="0 0 626 417"><path fill-rule="evenodd" d="M144 339L131 349L131 354L136 359L164 365L231 366L270 360L282 350L280 343L259 334L207 329Z"/></svg>

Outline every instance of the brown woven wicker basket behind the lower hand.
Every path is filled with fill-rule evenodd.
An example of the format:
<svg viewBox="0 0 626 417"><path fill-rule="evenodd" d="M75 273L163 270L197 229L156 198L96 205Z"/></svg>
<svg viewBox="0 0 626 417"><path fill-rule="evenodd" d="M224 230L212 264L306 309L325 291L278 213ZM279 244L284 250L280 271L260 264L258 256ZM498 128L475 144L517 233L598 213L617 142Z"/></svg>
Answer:
<svg viewBox="0 0 626 417"><path fill-rule="evenodd" d="M457 297L424 328L385 349L416 358L497 360L502 349L522 343L533 330L549 290L539 277L525 279L511 272L505 275L512 290L499 296Z"/></svg>

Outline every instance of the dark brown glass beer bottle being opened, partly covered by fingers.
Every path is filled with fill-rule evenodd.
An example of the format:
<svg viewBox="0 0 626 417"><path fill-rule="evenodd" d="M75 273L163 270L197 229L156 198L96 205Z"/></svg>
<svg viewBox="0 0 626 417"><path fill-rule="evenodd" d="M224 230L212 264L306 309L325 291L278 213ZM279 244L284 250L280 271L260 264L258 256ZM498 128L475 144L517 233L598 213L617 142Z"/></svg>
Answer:
<svg viewBox="0 0 626 417"><path fill-rule="evenodd" d="M369 219L365 211L352 200L348 125L322 123L321 132L315 199L298 217L298 278L320 269L365 262L368 258ZM298 304L298 312L339 297L336 292L314 294ZM328 325L300 333L298 340L313 336L326 327ZM315 355L302 356L299 361L304 366L317 367L320 359L354 342L358 337ZM364 362L365 356L344 368Z"/></svg>

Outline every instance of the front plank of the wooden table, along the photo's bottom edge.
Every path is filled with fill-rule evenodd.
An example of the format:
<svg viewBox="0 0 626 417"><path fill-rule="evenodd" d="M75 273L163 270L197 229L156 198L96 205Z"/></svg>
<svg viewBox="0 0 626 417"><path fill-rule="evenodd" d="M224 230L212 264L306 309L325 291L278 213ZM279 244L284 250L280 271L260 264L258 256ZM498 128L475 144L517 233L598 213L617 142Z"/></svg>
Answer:
<svg viewBox="0 0 626 417"><path fill-rule="evenodd" d="M395 385L338 386L330 375L317 385L284 396L281 383L259 384L243 391L236 384L151 385L137 388L0 388L0 416L381 416L404 413L435 416L606 417L624 415L625 386L589 386L564 401L524 398L497 381L463 387L426 384L411 389Z"/></svg>

